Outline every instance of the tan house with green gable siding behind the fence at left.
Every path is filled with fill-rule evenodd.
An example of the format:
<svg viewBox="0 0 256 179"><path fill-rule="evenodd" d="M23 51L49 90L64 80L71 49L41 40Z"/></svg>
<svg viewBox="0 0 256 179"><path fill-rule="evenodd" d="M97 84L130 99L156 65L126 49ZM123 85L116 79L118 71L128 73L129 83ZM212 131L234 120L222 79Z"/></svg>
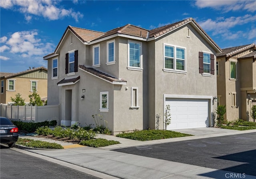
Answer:
<svg viewBox="0 0 256 179"><path fill-rule="evenodd" d="M11 97L15 98L17 93L29 103L28 95L36 89L40 97L47 97L47 69L44 67L32 68L18 73L0 72L1 94L0 102L12 104ZM44 100L42 99L42 100Z"/></svg>

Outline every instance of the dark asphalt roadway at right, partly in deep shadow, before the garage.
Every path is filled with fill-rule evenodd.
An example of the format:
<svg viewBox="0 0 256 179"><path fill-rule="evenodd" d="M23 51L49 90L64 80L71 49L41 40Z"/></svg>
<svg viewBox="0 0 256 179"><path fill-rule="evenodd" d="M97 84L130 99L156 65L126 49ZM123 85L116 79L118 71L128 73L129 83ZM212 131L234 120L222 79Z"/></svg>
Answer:
<svg viewBox="0 0 256 179"><path fill-rule="evenodd" d="M113 151L256 176L256 133L128 147Z"/></svg>

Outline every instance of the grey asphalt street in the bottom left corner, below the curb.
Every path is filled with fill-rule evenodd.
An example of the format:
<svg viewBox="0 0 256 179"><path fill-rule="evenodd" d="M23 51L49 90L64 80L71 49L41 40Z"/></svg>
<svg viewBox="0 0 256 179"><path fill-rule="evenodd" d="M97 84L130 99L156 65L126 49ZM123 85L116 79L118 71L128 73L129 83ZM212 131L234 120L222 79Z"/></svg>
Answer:
<svg viewBox="0 0 256 179"><path fill-rule="evenodd" d="M99 179L0 145L1 179Z"/></svg>

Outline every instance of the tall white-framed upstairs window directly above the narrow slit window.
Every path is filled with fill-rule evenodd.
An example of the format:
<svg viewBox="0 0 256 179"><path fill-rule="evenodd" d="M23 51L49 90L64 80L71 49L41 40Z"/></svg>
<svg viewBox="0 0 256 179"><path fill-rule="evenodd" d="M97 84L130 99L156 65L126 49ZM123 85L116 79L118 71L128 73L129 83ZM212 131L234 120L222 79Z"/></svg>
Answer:
<svg viewBox="0 0 256 179"><path fill-rule="evenodd" d="M128 40L128 70L142 71L142 43Z"/></svg>

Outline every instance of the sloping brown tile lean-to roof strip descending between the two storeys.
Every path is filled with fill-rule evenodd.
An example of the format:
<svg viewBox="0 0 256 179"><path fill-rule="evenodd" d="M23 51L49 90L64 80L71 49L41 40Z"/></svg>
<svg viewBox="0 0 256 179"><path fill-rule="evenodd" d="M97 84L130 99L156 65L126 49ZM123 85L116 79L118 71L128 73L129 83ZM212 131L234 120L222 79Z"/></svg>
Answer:
<svg viewBox="0 0 256 179"><path fill-rule="evenodd" d="M84 65L79 65L79 68L81 68L82 70L84 70L88 73L91 73L95 76L98 76L99 78L102 78L104 80L112 82L112 83L126 83L127 82L126 80L115 78L115 77L110 76L104 72L100 72L98 70L95 70L94 68L86 67Z"/></svg>

